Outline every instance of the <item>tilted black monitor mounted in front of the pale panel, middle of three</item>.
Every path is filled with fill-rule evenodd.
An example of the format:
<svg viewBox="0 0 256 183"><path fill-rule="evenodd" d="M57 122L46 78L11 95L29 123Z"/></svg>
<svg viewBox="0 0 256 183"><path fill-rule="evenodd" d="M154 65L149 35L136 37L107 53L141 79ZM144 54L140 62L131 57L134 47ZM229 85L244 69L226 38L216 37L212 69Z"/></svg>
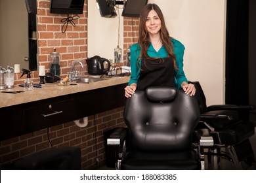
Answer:
<svg viewBox="0 0 256 183"><path fill-rule="evenodd" d="M96 0L98 10L100 10L100 16L105 18L115 18L116 11L112 1L108 0Z"/></svg>

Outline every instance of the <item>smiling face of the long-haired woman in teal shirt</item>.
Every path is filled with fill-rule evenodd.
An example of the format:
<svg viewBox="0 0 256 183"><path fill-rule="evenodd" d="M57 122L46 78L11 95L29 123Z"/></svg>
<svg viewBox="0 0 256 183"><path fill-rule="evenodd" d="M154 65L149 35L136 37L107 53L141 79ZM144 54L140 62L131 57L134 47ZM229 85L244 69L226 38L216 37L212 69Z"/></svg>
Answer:
<svg viewBox="0 0 256 183"><path fill-rule="evenodd" d="M150 10L146 18L146 30L150 35L156 35L161 29L161 20L155 10Z"/></svg>

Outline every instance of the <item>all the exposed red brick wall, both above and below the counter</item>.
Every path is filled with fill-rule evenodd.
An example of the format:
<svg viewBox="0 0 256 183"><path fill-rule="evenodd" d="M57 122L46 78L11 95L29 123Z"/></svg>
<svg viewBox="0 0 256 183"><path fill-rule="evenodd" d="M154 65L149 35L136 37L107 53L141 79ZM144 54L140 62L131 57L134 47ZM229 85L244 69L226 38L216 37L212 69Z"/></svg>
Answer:
<svg viewBox="0 0 256 183"><path fill-rule="evenodd" d="M63 77L67 71L70 71L72 61L82 59L85 63L87 57L87 5L85 1L83 15L79 15L79 20L74 21L76 26L68 25L66 33L62 33L60 20L65 16L49 14L49 3L50 0L37 0L38 61L39 65L45 65L46 72L48 72L49 54L53 52L53 48L56 48L56 51L60 52ZM131 18L124 18L124 60L126 60L126 49L138 40L138 25L138 18L133 18L133 22ZM16 75L15 84L23 82L24 78L19 79L19 77L20 74ZM38 71L33 72L32 78L34 81L39 81ZM49 128L49 138L53 147L79 146L81 148L82 169L95 169L97 154L100 159L99 166L104 165L106 161L104 132L114 127L125 126L123 107L95 116L89 116L87 127L77 127L74 122L68 122ZM0 167L45 148L51 148L47 139L47 129L1 141Z"/></svg>

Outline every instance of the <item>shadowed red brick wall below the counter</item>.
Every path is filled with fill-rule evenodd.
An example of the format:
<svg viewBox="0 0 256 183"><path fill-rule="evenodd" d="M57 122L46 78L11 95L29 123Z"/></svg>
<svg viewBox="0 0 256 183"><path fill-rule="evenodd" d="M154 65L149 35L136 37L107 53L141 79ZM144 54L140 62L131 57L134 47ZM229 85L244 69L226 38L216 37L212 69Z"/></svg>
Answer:
<svg viewBox="0 0 256 183"><path fill-rule="evenodd" d="M82 169L96 169L106 163L104 133L114 127L125 127L123 107L89 116L86 127L78 127L74 122L49 127L49 139L53 148L79 146ZM51 148L47 136L47 129L42 129L1 141L0 167L34 152ZM96 158L100 159L98 165Z"/></svg>

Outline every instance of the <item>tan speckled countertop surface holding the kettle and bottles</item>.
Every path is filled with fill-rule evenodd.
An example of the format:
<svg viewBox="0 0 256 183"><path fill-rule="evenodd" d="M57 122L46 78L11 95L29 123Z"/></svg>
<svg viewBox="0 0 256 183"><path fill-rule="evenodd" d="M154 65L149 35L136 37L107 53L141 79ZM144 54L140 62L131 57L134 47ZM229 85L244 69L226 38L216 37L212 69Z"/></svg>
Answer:
<svg viewBox="0 0 256 183"><path fill-rule="evenodd" d="M48 99L51 97L58 97L61 95L68 95L72 93L85 92L88 90L95 90L98 88L104 88L108 86L114 86L117 84L124 84L129 82L129 76L108 78L97 82L91 82L89 84L77 83L77 85L58 86L56 82L46 83L42 85L42 88L33 88L33 90L24 90L20 86L14 86L12 89L0 90L1 91L17 91L24 90L22 93L0 93L0 108L9 107L12 105L19 105L22 103L29 103L32 101L39 101L42 99Z"/></svg>

